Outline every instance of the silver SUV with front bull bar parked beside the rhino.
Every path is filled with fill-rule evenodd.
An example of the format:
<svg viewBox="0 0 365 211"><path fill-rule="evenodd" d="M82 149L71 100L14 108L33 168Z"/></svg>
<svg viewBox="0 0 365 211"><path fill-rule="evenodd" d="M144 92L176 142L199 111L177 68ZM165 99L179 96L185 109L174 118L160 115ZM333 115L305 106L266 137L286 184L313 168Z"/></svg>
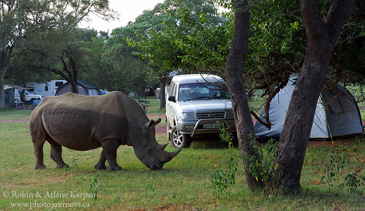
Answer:
<svg viewBox="0 0 365 211"><path fill-rule="evenodd" d="M174 76L166 101L167 137L173 146L189 147L198 134L218 134L217 121L236 132L232 103L223 79L209 74Z"/></svg>

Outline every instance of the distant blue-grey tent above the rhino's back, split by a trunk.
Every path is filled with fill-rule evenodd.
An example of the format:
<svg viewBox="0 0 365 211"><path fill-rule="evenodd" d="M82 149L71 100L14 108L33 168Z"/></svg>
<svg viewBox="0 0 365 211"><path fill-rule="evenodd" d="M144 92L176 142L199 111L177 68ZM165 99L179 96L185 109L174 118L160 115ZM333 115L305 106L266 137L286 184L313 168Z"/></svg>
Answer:
<svg viewBox="0 0 365 211"><path fill-rule="evenodd" d="M90 95L90 96L101 95L100 88L96 87L95 85L85 80L77 81L77 89L78 93L81 95ZM66 82L57 88L55 96L71 91L72 91L71 84L69 82Z"/></svg>

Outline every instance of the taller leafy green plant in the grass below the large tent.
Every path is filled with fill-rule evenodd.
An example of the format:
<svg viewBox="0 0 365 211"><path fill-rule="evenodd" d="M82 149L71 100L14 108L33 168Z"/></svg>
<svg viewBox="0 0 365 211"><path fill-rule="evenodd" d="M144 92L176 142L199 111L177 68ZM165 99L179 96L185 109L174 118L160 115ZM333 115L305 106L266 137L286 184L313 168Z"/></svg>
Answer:
<svg viewBox="0 0 365 211"><path fill-rule="evenodd" d="M333 188L336 183L336 175L345 167L346 158L344 155L341 155L338 159L336 159L333 155L329 155L329 161L324 162L325 166L324 175L321 178L321 181L326 180L331 188Z"/></svg>

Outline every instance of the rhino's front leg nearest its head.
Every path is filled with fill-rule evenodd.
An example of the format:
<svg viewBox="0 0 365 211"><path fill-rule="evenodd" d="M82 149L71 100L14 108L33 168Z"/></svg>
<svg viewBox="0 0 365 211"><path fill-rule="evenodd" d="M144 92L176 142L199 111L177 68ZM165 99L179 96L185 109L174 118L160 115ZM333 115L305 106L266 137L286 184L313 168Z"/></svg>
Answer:
<svg viewBox="0 0 365 211"><path fill-rule="evenodd" d="M102 141L101 146L103 147L103 152L105 153L105 157L108 160L108 170L121 170L122 168L117 163L117 149L119 147L118 140L104 140Z"/></svg>

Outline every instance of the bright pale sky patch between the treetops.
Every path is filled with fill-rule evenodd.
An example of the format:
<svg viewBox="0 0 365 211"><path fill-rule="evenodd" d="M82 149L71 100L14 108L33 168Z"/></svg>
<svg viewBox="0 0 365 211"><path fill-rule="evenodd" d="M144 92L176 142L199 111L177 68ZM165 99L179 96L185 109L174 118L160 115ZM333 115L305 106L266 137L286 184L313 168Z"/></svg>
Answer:
<svg viewBox="0 0 365 211"><path fill-rule="evenodd" d="M109 6L114 11L119 12L119 20L107 22L102 18L90 16L92 21L83 21L81 28L94 28L96 31L111 31L115 28L126 26L129 21L134 22L135 18L144 10L152 10L156 4L163 3L164 0L109 0Z"/></svg>

